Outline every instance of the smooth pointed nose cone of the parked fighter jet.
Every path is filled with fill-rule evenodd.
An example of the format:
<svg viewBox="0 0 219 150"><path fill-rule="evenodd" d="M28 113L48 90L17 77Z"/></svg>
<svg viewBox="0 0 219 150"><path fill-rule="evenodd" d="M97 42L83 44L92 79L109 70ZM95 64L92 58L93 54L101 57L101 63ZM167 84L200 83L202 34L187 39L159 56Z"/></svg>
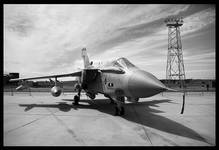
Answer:
<svg viewBox="0 0 219 150"><path fill-rule="evenodd" d="M165 91L166 87L152 74L138 70L129 78L128 89L133 97L149 97Z"/></svg>

